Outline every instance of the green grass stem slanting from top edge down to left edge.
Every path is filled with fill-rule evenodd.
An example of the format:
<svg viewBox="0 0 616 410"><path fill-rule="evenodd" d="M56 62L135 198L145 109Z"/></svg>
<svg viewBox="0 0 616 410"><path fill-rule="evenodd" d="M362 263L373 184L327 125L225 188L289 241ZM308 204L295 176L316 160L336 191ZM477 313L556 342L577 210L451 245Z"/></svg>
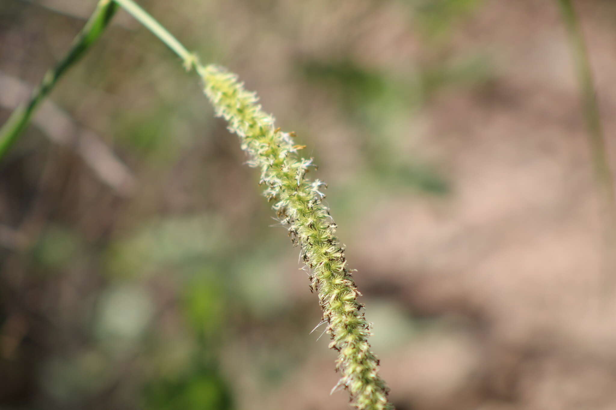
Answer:
<svg viewBox="0 0 616 410"><path fill-rule="evenodd" d="M30 101L18 106L10 115L7 122L0 128L0 160L10 149L12 144L17 141L23 130L30 122L34 111L38 108L41 101L51 92L55 83L60 79L62 74L67 71L70 66L74 65L81 58L87 49L94 44L100 35L107 27L113 17L118 5L111 0L100 0L92 16L87 20L83 30L73 42L73 46L68 51L67 55L62 58L62 61L55 68L47 71L43 77L43 81L38 88L34 90Z"/></svg>

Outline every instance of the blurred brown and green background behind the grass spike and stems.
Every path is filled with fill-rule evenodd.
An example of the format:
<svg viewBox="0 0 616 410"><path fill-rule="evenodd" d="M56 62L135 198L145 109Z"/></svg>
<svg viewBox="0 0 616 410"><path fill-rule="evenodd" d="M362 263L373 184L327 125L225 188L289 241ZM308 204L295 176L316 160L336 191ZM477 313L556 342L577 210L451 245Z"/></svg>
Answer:
<svg viewBox="0 0 616 410"><path fill-rule="evenodd" d="M315 157L398 410L616 409L556 1L140 4ZM576 6L616 159L616 3ZM1 122L94 7L0 1ZM49 101L0 164L0 408L347 408L299 250L197 77L119 12Z"/></svg>

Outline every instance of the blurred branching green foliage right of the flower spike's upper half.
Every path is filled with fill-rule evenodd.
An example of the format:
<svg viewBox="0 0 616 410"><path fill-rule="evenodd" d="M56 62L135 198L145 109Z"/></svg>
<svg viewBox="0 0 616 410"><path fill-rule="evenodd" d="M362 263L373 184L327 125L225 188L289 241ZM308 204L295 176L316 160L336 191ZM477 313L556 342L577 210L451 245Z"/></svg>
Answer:
<svg viewBox="0 0 616 410"><path fill-rule="evenodd" d="M444 175L421 161L399 159L389 135L391 124L408 119L440 90L480 84L490 77L490 65L481 57L464 61L442 61L415 66L397 78L362 68L356 63L334 61L302 63L307 81L338 92L341 106L357 127L357 135L367 146L368 173L392 186L410 186L429 194L447 194L450 186ZM397 132L394 131L394 132Z"/></svg>

